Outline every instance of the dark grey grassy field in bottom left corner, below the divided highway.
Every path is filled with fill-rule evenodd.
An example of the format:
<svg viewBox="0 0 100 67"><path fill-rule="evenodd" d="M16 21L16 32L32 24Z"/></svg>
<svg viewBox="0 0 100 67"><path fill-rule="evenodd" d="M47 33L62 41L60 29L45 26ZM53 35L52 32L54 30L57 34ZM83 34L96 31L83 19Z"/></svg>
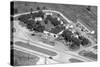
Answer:
<svg viewBox="0 0 100 67"><path fill-rule="evenodd" d="M25 66L35 65L39 61L39 57L22 51L14 50L14 65Z"/></svg>

